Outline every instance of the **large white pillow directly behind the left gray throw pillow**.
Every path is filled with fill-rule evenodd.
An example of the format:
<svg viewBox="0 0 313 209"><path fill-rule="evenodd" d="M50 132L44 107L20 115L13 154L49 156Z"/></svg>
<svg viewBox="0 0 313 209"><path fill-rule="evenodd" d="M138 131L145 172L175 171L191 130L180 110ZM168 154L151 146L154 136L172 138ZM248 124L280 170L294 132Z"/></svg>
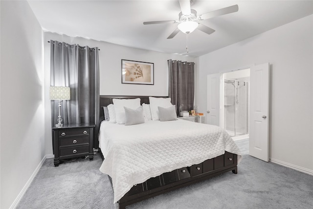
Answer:
<svg viewBox="0 0 313 209"><path fill-rule="evenodd" d="M140 98L136 99L113 99L116 123L125 124L125 109L124 107L130 109L137 109L140 107ZM110 116L111 117L111 116Z"/></svg>

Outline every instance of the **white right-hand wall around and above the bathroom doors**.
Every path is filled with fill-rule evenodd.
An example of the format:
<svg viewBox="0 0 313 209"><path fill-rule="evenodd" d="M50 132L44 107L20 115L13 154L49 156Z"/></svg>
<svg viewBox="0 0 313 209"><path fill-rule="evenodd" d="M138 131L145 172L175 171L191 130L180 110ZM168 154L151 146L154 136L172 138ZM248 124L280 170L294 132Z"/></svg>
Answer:
<svg viewBox="0 0 313 209"><path fill-rule="evenodd" d="M269 157L313 172L313 15L199 57L206 75L270 63ZM196 92L206 112L206 92Z"/></svg>

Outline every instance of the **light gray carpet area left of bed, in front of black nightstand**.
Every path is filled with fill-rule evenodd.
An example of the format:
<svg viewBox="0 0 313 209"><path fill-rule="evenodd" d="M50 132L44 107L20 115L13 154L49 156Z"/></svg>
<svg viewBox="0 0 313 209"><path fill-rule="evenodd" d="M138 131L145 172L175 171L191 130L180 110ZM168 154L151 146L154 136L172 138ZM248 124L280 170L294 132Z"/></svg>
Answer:
<svg viewBox="0 0 313 209"><path fill-rule="evenodd" d="M93 161L78 158L54 167L46 159L17 209L113 209L113 191L107 175Z"/></svg>

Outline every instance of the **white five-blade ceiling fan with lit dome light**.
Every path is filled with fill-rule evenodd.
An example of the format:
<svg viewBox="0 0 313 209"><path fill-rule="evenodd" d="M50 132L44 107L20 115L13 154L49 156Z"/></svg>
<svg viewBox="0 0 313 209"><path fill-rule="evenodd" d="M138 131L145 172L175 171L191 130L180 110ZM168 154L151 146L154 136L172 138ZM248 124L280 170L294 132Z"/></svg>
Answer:
<svg viewBox="0 0 313 209"><path fill-rule="evenodd" d="M196 21L202 21L209 18L214 18L220 15L225 15L238 11L238 5L236 4L197 16L197 11L190 8L190 1L191 0L179 0L179 5L181 9L181 12L179 13L179 20L152 21L152 22L143 22L143 24L179 23L178 27L169 37L167 37L167 39L174 38L174 36L176 36L179 33L179 31L189 34L196 28L198 28L204 33L212 34L215 31L214 29L205 26L201 23L198 23Z"/></svg>

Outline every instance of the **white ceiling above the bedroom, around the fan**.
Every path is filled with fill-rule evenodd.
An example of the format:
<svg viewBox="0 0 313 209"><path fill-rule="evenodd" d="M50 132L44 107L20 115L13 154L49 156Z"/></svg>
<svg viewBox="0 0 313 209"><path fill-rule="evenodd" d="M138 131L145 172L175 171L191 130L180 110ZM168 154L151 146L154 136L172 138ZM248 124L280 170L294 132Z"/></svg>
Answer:
<svg viewBox="0 0 313 209"><path fill-rule="evenodd" d="M186 54L186 34L167 37L178 23L178 0L28 0L45 31L122 46ZM201 21L216 31L188 36L189 56L200 56L313 14L313 0L193 0L198 15L238 4L239 11Z"/></svg>

